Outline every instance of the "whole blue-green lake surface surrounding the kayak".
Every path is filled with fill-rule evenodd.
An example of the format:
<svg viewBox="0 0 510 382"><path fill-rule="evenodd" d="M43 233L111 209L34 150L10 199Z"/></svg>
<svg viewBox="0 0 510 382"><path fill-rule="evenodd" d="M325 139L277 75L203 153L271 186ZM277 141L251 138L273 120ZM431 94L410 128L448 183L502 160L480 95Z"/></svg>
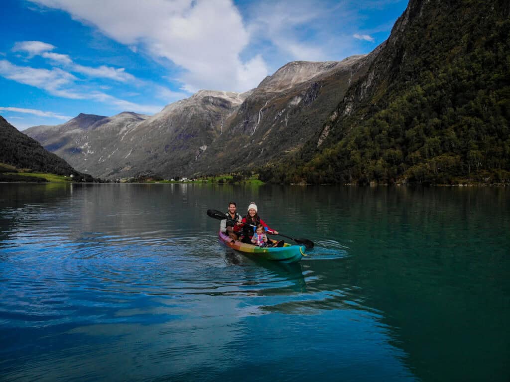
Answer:
<svg viewBox="0 0 510 382"><path fill-rule="evenodd" d="M0 184L0 379L508 381L509 246L508 189Z"/></svg>

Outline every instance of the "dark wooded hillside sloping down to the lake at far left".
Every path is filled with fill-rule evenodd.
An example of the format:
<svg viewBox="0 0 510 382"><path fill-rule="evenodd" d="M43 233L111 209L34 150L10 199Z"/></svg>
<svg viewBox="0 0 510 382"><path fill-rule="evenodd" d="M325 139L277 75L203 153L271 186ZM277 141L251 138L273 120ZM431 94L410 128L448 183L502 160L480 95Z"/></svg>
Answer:
<svg viewBox="0 0 510 382"><path fill-rule="evenodd" d="M90 175L73 169L62 158L46 151L36 140L19 132L0 116L0 163L17 168L31 169L58 175L80 176L91 180Z"/></svg>

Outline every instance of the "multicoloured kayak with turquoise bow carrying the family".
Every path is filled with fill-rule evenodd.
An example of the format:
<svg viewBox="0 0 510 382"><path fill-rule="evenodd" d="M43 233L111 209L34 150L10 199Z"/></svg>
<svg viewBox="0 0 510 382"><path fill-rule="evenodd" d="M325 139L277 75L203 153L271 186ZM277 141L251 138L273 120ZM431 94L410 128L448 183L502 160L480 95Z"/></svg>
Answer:
<svg viewBox="0 0 510 382"><path fill-rule="evenodd" d="M285 243L283 247L258 247L256 245L243 243L240 240L236 240L231 243L231 238L226 236L221 231L218 233L220 241L224 243L226 246L231 247L239 252L250 253L256 256L259 259L266 260L278 260L278 261L287 261L293 262L301 260L301 257L304 255L304 245L290 245L289 243ZM271 240L275 243L275 240Z"/></svg>

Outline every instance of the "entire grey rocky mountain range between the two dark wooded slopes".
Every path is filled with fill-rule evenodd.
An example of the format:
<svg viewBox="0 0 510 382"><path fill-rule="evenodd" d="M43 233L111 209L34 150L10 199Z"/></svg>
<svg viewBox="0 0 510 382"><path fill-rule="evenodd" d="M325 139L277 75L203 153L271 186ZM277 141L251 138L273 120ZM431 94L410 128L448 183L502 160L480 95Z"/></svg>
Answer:
<svg viewBox="0 0 510 382"><path fill-rule="evenodd" d="M24 132L74 167L107 179L264 166L311 138L374 57L291 62L245 93L201 90L151 117L81 114Z"/></svg>

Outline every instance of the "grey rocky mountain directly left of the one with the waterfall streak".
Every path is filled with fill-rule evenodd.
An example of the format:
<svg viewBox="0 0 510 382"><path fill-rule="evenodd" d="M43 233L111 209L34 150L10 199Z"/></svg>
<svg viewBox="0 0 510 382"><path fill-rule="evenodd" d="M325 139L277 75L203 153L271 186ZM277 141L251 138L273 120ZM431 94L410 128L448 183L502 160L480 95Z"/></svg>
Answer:
<svg viewBox="0 0 510 382"><path fill-rule="evenodd" d="M224 125L249 93L201 90L166 106L124 137L112 156L107 177L160 174L167 178L193 173Z"/></svg>

